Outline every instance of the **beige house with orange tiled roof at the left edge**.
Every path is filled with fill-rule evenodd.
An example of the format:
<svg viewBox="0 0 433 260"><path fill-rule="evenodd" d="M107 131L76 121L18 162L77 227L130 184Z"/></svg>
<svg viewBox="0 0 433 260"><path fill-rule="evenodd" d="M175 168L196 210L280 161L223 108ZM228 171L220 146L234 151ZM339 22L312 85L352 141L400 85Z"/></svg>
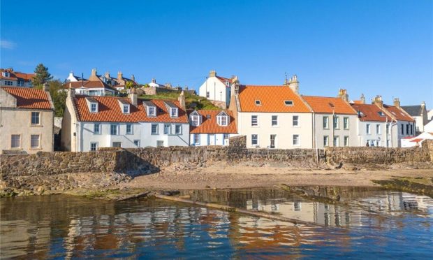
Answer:
<svg viewBox="0 0 433 260"><path fill-rule="evenodd" d="M52 152L54 106L43 89L0 87L0 152Z"/></svg>

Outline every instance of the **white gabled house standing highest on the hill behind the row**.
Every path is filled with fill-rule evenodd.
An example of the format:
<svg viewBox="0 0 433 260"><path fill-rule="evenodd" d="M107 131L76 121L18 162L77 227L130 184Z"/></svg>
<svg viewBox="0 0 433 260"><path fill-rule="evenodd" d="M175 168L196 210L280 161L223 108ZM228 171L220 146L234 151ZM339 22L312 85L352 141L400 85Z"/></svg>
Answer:
<svg viewBox="0 0 433 260"><path fill-rule="evenodd" d="M209 76L200 86L198 95L212 101L219 101L223 108L227 108L230 104L230 86L235 78L224 78L218 76L216 71L210 71Z"/></svg>

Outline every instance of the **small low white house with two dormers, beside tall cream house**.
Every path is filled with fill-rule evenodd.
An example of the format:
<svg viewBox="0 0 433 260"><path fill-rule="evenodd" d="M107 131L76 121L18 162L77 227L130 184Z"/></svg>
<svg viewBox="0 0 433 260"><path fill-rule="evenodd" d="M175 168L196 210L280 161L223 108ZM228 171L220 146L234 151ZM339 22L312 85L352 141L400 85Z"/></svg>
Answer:
<svg viewBox="0 0 433 260"><path fill-rule="evenodd" d="M194 110L189 114L190 145L228 145L237 136L235 118L230 110Z"/></svg>

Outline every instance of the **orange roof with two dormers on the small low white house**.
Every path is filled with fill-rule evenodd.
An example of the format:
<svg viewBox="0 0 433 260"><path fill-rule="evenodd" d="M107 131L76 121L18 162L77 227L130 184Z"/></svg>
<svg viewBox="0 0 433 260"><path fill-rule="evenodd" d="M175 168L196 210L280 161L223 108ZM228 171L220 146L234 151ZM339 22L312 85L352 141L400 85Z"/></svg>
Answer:
<svg viewBox="0 0 433 260"><path fill-rule="evenodd" d="M221 110L197 110L202 117L202 124L198 127L191 126L191 133L237 133L235 118L230 110L225 111L230 117L230 123L227 127L221 127L217 124L217 115ZM210 119L207 118L210 115Z"/></svg>

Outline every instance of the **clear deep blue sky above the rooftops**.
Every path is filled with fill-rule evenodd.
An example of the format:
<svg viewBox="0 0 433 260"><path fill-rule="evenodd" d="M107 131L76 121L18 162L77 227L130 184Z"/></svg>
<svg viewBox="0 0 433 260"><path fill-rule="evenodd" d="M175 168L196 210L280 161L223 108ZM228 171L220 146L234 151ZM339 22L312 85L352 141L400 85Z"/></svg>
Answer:
<svg viewBox="0 0 433 260"><path fill-rule="evenodd" d="M1 68L109 71L200 87L241 84L433 108L433 0L1 1Z"/></svg>

